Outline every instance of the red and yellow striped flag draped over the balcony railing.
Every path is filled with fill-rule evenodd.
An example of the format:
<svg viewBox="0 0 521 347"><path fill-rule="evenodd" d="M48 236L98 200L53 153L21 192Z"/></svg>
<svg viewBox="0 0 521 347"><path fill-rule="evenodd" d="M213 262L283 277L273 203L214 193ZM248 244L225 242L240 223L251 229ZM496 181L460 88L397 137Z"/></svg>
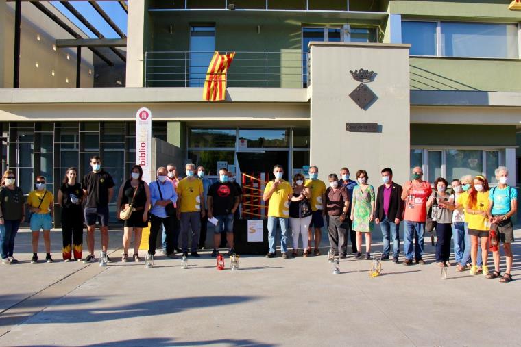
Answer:
<svg viewBox="0 0 521 347"><path fill-rule="evenodd" d="M223 101L226 99L226 73L232 64L235 52L230 54L213 53L212 60L204 79L203 99L207 101Z"/></svg>

